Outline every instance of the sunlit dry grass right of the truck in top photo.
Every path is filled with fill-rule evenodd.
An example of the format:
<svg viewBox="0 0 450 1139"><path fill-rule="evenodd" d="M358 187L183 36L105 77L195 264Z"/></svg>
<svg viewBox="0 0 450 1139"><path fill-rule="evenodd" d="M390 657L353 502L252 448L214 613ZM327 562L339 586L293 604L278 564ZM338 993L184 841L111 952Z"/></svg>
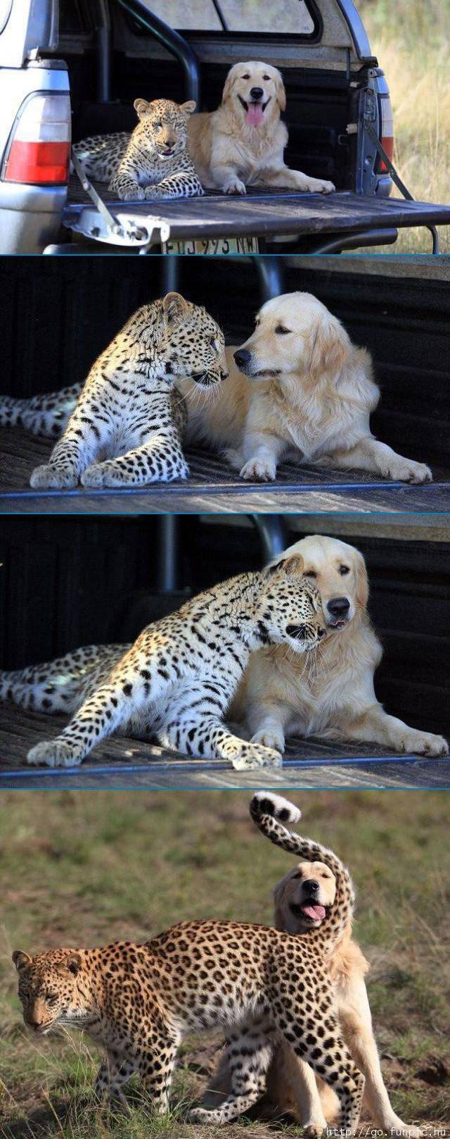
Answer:
<svg viewBox="0 0 450 1139"><path fill-rule="evenodd" d="M394 165L415 198L450 200L450 0L356 0L386 75L394 114ZM399 194L397 189L393 191ZM450 227L440 227L450 253ZM431 251L424 229L400 231L386 252ZM380 246L380 251L383 247Z"/></svg>

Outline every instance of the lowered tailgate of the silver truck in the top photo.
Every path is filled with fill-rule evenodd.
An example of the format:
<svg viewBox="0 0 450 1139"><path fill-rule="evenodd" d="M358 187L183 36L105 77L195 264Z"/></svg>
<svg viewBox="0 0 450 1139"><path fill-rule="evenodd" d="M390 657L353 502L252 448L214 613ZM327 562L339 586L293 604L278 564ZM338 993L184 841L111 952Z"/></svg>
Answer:
<svg viewBox="0 0 450 1139"><path fill-rule="evenodd" d="M358 233L367 229L449 224L450 205L407 202L403 198L365 197L351 191L294 194L292 190L249 189L245 196L207 191L199 198L152 198L151 202L119 202L105 186L93 183L114 213L163 219L169 224L170 240L189 238L248 237L268 239L277 235ZM83 210L95 212L76 175L69 182L63 221L69 229L90 235L92 224Z"/></svg>

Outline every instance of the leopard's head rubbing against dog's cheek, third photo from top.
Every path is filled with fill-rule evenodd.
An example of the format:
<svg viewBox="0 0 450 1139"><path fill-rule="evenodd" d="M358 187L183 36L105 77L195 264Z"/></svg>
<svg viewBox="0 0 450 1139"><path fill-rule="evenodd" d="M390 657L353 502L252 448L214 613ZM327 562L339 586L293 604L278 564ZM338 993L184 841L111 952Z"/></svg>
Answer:
<svg viewBox="0 0 450 1139"><path fill-rule="evenodd" d="M301 559L288 558L268 571L259 620L262 637L267 634L272 645L289 645L294 653L317 648L326 636L320 593L302 576Z"/></svg>

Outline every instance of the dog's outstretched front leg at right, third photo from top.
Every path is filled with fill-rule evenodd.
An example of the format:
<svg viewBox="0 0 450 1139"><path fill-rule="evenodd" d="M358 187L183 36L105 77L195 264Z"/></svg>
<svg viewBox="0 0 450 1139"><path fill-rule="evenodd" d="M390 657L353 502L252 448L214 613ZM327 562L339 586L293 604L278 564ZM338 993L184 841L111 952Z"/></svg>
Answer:
<svg viewBox="0 0 450 1139"><path fill-rule="evenodd" d="M408 728L402 720L389 715L382 704L373 704L356 715L355 720L347 720L342 726L342 738L367 740L381 744L382 747L392 747L395 752L413 752L416 755L449 754L449 745L443 736Z"/></svg>

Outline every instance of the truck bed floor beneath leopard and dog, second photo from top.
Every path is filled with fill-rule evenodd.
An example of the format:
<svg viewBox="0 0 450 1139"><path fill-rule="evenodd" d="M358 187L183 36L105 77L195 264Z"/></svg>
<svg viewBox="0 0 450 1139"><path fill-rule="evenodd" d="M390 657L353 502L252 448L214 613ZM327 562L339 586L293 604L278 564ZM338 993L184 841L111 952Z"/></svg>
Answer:
<svg viewBox="0 0 450 1139"><path fill-rule="evenodd" d="M123 490L33 490L31 472L48 461L51 448L51 440L36 439L22 428L0 429L0 513L450 510L450 470L443 468L434 468L435 482L410 486L380 481L365 472L282 464L275 483L247 483L219 456L199 449L186 450L191 472L186 482Z"/></svg>

